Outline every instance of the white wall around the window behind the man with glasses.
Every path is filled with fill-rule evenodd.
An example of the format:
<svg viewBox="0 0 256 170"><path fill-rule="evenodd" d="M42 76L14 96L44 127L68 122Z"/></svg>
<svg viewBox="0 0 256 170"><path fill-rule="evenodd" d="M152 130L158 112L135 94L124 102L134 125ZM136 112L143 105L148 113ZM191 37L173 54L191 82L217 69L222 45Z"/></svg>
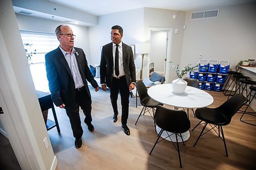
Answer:
<svg viewBox="0 0 256 170"><path fill-rule="evenodd" d="M16 14L18 21L19 30L24 31L35 31L35 32L45 32L45 33L54 33L56 27L59 25L67 25L76 35L75 38L75 47L82 48L86 54L87 60L90 63L91 61L91 52L90 52L90 43L88 35L88 27L72 25L65 22L59 22L54 20L42 19L32 16L26 16L22 14ZM55 33L54 33L55 34Z"/></svg>

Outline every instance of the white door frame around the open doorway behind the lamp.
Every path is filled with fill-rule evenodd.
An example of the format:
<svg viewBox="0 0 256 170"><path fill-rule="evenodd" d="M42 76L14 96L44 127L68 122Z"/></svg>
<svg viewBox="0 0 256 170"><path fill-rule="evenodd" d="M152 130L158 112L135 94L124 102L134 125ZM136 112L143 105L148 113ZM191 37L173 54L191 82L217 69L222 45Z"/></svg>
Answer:
<svg viewBox="0 0 256 170"><path fill-rule="evenodd" d="M166 31L168 40L167 40L167 46L166 46L166 63L170 62L171 58L171 51L172 51L172 39L173 39L173 29L172 28L162 28L162 27L148 27L148 42L151 40L151 32L152 31ZM148 65L150 64L150 60L148 60ZM170 72L170 66L165 64L166 67L164 69L165 72L165 83L169 83L169 72Z"/></svg>

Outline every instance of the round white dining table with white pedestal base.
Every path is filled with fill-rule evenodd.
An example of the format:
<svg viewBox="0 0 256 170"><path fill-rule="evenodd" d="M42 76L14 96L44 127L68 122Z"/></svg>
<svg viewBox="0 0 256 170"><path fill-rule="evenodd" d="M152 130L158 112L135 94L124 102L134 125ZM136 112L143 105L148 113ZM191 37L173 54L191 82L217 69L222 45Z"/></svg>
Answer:
<svg viewBox="0 0 256 170"><path fill-rule="evenodd" d="M186 90L183 94L176 94L173 92L172 84L159 84L152 86L147 89L148 95L157 102L174 106L175 109L178 107L182 108L202 108L209 106L214 102L214 98L212 96L195 87L187 86ZM157 132L160 132L160 128L157 127ZM182 133L182 138L186 141L190 133L189 131ZM161 137L166 138L168 134L163 132ZM173 141L176 141L175 135L170 136ZM166 140L170 140L166 138ZM178 142L181 142L181 137L178 136Z"/></svg>

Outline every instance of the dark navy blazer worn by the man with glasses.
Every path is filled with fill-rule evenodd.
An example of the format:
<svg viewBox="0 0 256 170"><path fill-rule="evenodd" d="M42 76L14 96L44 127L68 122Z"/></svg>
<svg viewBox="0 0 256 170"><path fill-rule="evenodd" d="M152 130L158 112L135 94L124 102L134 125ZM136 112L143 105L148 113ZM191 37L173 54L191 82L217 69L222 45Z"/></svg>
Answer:
<svg viewBox="0 0 256 170"><path fill-rule="evenodd" d="M87 80L94 88L98 87L98 84L94 80L90 68L88 67L86 55L84 54L83 50L77 47L74 48L76 51L75 56L84 87L86 87L87 93L91 98ZM49 81L49 89L52 94L53 103L56 106L60 106L61 104L72 106L76 101L75 82L65 56L58 47L55 50L47 53L45 59L47 79Z"/></svg>

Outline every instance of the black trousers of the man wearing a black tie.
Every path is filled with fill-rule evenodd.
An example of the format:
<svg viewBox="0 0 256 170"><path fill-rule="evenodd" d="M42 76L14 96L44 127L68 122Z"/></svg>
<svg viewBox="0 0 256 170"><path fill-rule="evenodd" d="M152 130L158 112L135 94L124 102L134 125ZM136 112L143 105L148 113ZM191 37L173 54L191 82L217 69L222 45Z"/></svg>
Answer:
<svg viewBox="0 0 256 170"><path fill-rule="evenodd" d="M111 104L112 104L112 107L114 110L114 114L118 113L117 99L118 99L119 91L120 91L121 105L122 105L121 123L122 123L122 125L126 125L128 115L129 115L130 90L127 86L125 76L122 76L119 79L113 78L112 88L110 88L110 99L111 99Z"/></svg>

